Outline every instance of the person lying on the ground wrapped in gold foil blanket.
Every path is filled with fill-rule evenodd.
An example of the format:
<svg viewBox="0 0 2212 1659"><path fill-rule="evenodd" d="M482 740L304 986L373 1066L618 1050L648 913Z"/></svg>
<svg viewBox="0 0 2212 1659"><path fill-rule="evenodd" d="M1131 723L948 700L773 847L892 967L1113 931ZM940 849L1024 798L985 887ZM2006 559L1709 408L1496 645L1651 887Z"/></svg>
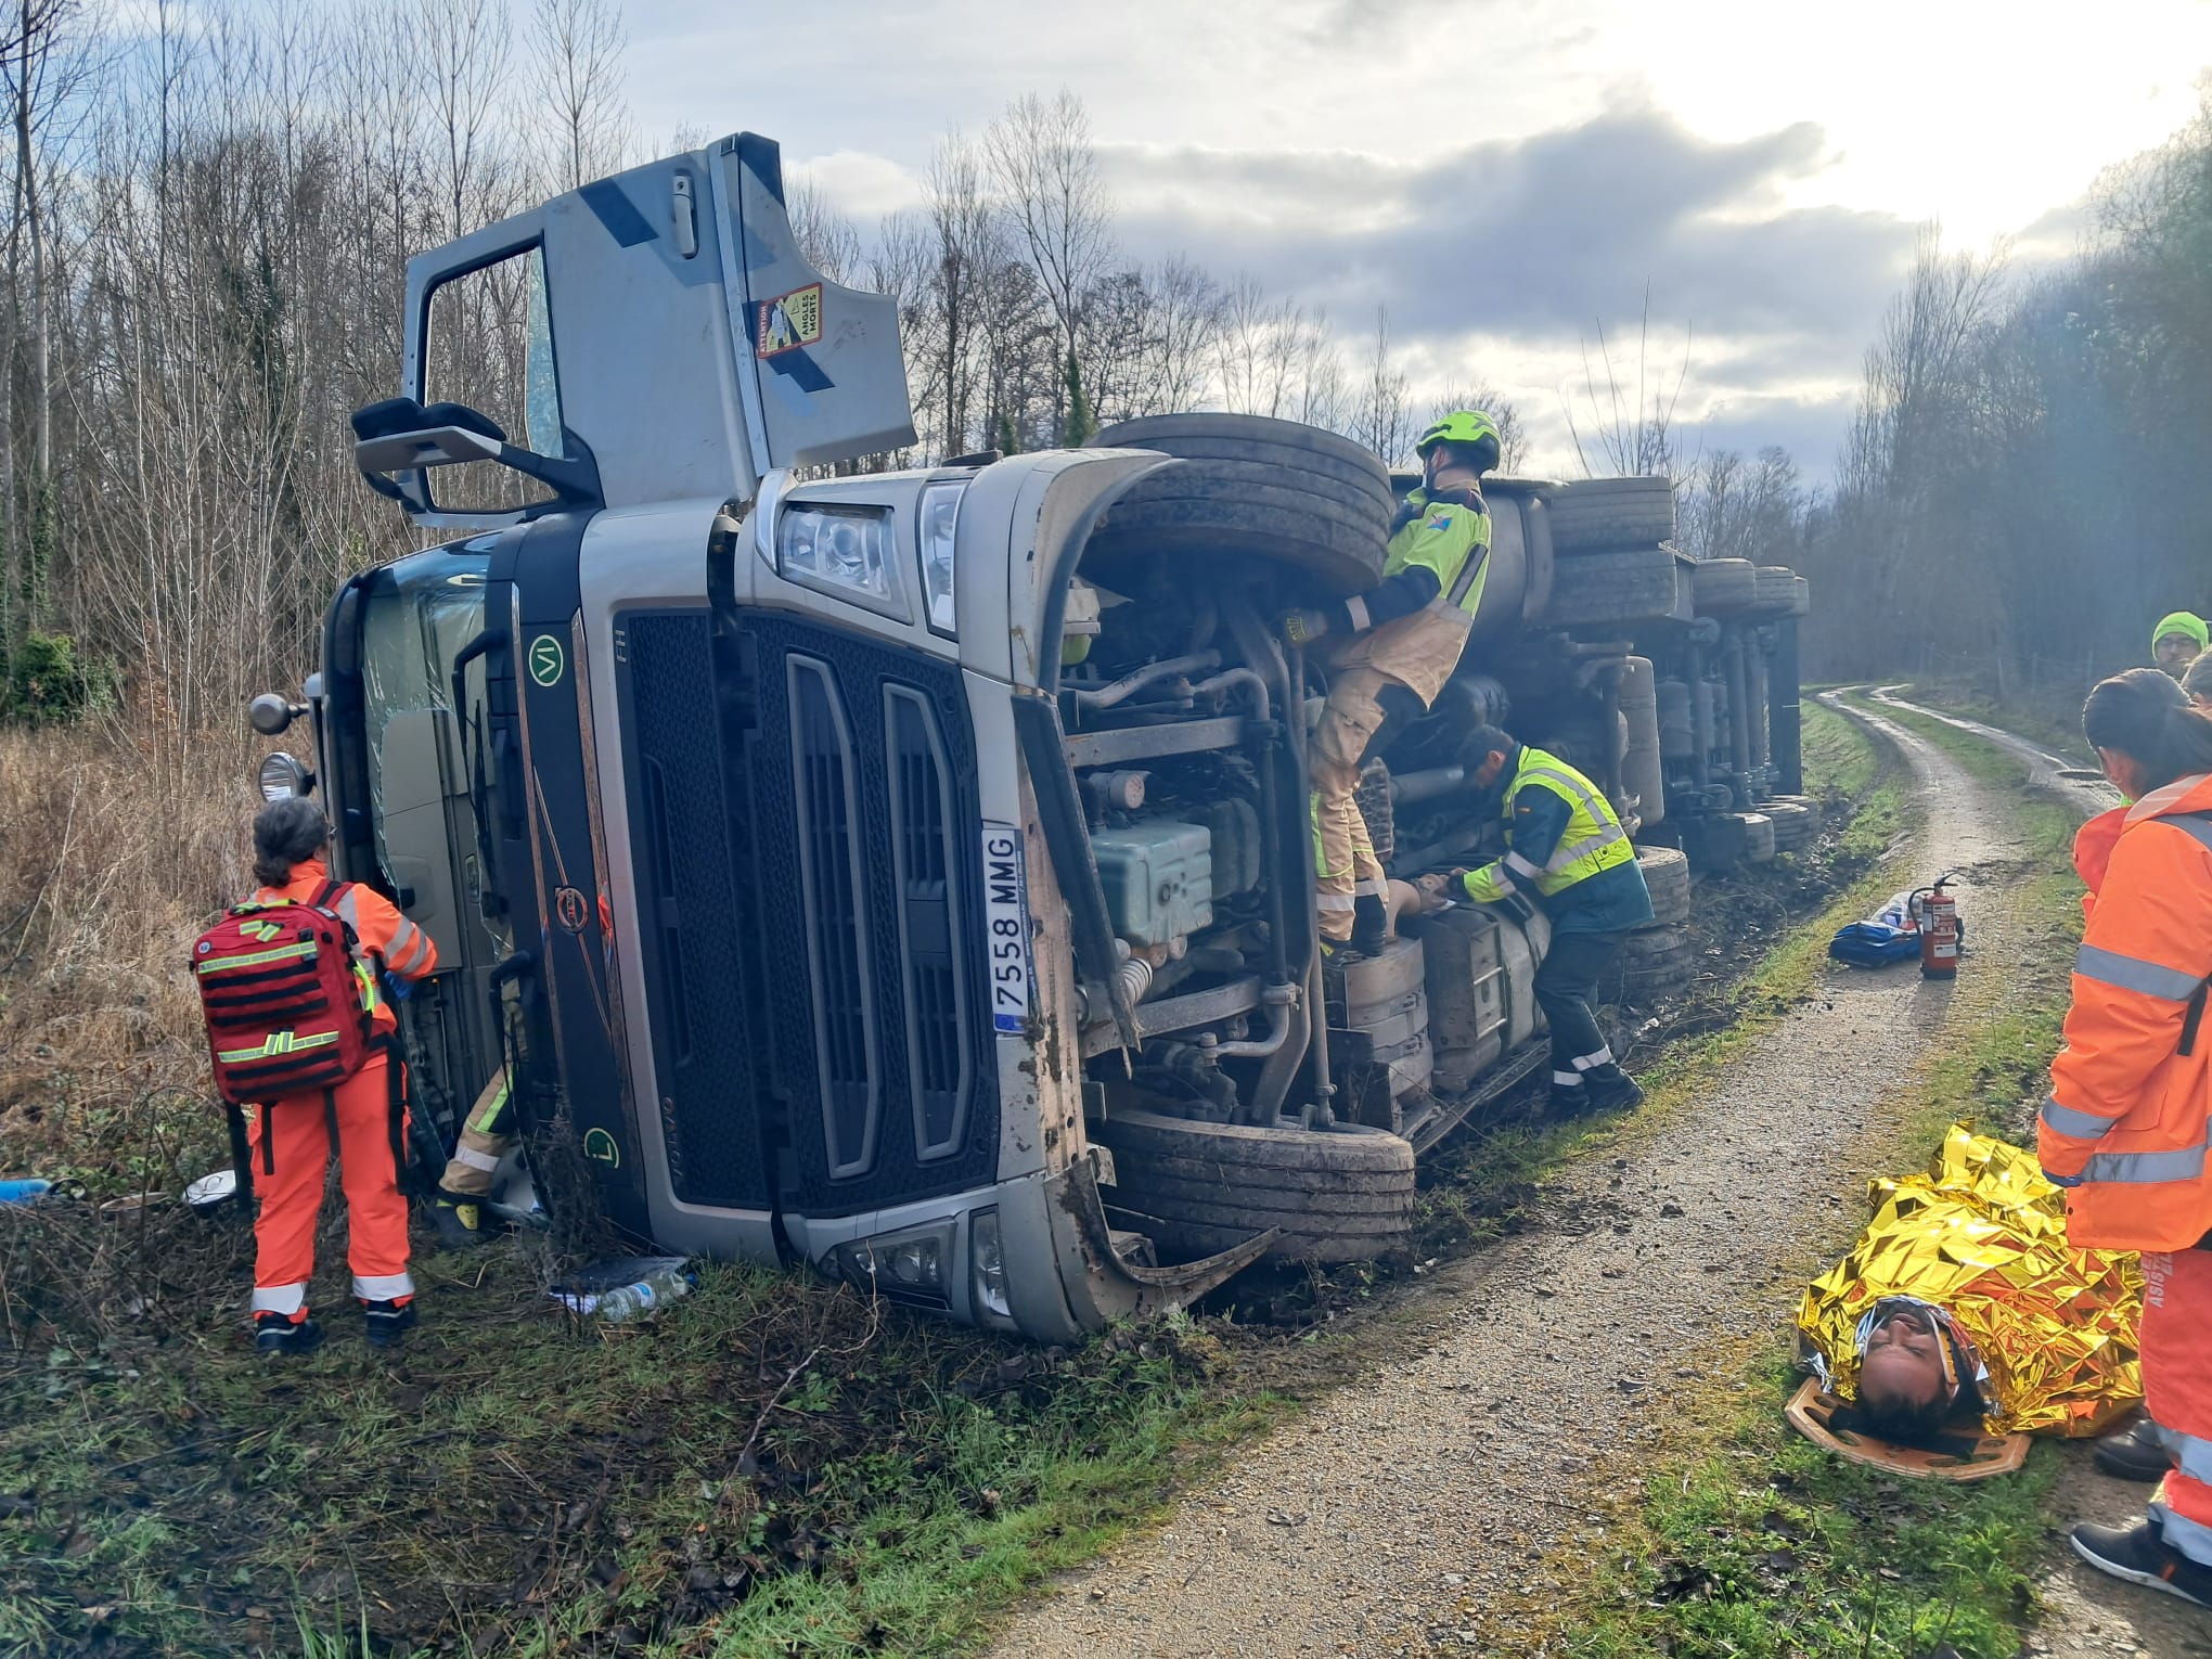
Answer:
<svg viewBox="0 0 2212 1659"><path fill-rule="evenodd" d="M1847 1402L1838 1429L1944 1451L1984 1431L2090 1436L2137 1407L2137 1261L2066 1243L2031 1152L1958 1124L1924 1175L1871 1197L1798 1305L1809 1365Z"/></svg>

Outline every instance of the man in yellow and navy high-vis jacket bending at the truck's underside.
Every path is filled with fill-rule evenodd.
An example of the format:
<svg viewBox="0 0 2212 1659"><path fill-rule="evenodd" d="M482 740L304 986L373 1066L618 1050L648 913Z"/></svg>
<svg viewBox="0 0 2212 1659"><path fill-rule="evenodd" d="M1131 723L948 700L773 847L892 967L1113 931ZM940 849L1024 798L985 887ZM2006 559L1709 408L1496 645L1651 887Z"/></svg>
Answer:
<svg viewBox="0 0 2212 1659"><path fill-rule="evenodd" d="M1475 905L1528 902L1551 918L1551 951L1535 973L1551 1022L1551 1110L1626 1110L1644 1091L1613 1060L1590 998L1621 940L1652 920L1637 849L1604 792L1557 754L1495 726L1469 732L1467 750L1482 757L1475 783L1498 790L1506 852L1453 872L1451 894Z"/></svg>

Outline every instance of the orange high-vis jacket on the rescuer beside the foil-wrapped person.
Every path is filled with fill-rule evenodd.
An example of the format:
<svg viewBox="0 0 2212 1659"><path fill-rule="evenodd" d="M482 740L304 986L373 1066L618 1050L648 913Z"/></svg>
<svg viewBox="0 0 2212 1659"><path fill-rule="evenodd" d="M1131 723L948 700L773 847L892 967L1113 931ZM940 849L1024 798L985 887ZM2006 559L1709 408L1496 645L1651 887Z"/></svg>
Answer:
<svg viewBox="0 0 2212 1659"><path fill-rule="evenodd" d="M2075 956L2066 1046L2035 1148L2084 1250L2190 1250L2212 1232L2212 774L2128 807Z"/></svg>

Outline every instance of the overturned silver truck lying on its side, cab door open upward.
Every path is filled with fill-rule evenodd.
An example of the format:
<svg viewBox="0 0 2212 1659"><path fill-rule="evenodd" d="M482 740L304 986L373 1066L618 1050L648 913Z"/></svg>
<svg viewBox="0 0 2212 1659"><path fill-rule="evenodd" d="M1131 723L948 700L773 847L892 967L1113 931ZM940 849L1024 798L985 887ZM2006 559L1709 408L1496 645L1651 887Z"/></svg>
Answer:
<svg viewBox="0 0 2212 1659"><path fill-rule="evenodd" d="M321 790L338 872L438 942L425 1117L507 1064L628 1232L1064 1340L1387 1250L1416 1155L1540 1062L1542 916L1314 949L1325 679L1270 619L1376 580L1358 447L1164 416L823 476L914 442L896 314L807 265L754 135L414 261L356 436L458 540L343 586L261 710L312 712L316 774L263 787ZM1365 794L1394 874L1480 856L1478 714L1646 843L1772 849L1803 582L1679 557L1659 480L1489 500L1462 672ZM1688 872L1646 858L1635 995L1686 971Z"/></svg>

